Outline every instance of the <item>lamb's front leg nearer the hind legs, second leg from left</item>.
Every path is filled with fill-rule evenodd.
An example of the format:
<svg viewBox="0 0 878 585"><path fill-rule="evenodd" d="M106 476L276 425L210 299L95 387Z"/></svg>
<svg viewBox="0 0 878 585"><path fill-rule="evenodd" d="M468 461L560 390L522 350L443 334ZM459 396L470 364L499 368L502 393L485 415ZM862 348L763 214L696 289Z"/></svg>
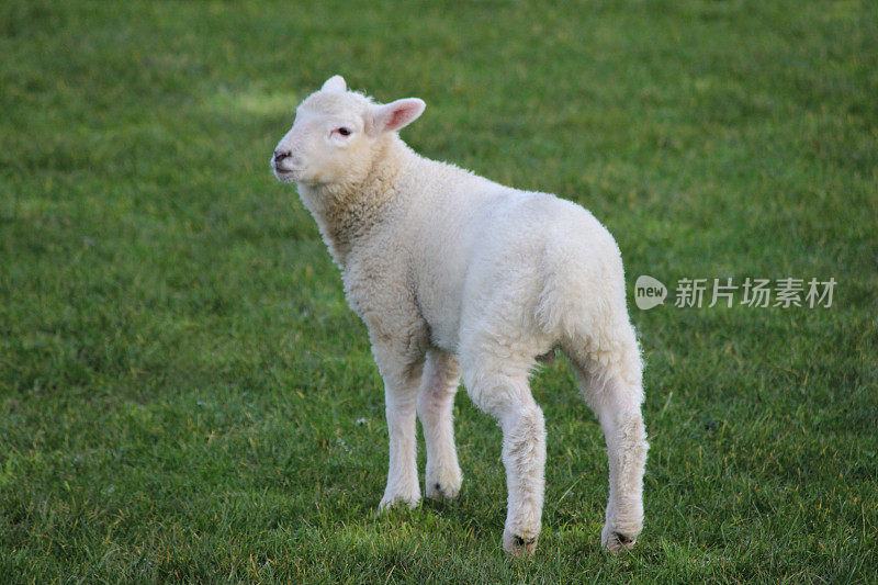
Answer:
<svg viewBox="0 0 878 585"><path fill-rule="evenodd" d="M417 412L427 445L426 493L434 499L450 499L460 492L462 475L451 414L459 382L457 358L435 349L427 352Z"/></svg>

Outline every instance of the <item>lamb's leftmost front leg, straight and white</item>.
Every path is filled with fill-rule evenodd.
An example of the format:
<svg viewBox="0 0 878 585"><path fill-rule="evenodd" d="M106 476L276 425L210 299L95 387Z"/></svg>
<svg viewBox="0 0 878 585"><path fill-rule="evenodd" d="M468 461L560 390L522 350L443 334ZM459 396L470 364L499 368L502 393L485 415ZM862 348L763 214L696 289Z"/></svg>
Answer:
<svg viewBox="0 0 878 585"><path fill-rule="evenodd" d="M415 437L415 405L423 362L394 355L386 348L374 348L384 379L384 403L390 435L387 487L379 510L402 503L414 508L420 502Z"/></svg>

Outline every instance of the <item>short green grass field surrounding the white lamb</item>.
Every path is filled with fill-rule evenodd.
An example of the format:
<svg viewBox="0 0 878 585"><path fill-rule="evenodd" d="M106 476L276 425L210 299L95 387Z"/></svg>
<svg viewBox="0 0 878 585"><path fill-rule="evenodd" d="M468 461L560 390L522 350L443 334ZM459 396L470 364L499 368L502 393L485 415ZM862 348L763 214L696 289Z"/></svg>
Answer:
<svg viewBox="0 0 878 585"><path fill-rule="evenodd" d="M0 582L878 578L871 0L7 0L0 55ZM365 329L268 168L337 72L426 100L426 156L592 210L630 294L837 281L830 308L630 299L631 554L599 548L603 436L563 360L533 379L532 561L500 550L500 434L463 391L461 498L376 517Z"/></svg>

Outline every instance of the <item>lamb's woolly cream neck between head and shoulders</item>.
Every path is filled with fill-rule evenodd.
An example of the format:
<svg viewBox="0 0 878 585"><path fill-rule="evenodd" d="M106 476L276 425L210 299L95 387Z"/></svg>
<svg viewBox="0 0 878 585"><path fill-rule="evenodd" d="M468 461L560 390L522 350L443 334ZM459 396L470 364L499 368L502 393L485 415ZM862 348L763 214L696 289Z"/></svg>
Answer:
<svg viewBox="0 0 878 585"><path fill-rule="evenodd" d="M379 145L369 171L349 183L300 185L302 199L317 222L333 258L345 269L358 241L394 207L398 180L417 158L398 136ZM304 190L303 190L304 189Z"/></svg>

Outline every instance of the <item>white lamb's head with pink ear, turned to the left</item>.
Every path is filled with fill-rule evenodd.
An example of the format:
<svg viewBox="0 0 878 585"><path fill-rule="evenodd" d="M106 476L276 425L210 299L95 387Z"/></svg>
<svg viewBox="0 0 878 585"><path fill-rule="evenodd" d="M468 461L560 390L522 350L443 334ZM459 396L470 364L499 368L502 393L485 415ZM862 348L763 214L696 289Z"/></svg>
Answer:
<svg viewBox="0 0 878 585"><path fill-rule="evenodd" d="M348 91L341 76L329 78L295 111L295 122L271 157L283 182L356 184L372 168L382 140L424 112L417 98L387 104Z"/></svg>

